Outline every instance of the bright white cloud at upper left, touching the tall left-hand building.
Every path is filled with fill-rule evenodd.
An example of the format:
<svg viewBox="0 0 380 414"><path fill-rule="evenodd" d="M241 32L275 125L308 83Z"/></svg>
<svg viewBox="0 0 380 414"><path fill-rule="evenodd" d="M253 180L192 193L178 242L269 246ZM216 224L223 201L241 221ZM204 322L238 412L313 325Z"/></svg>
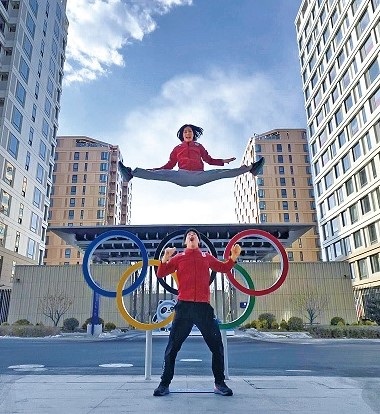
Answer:
<svg viewBox="0 0 380 414"><path fill-rule="evenodd" d="M154 31L155 16L191 4L192 0L69 1L65 84L91 81L112 66L124 66L122 48Z"/></svg>

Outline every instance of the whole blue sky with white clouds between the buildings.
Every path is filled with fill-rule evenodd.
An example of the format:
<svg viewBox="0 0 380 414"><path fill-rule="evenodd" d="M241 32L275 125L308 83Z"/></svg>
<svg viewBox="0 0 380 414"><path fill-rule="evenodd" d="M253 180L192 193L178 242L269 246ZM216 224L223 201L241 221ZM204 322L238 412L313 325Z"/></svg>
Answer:
<svg viewBox="0 0 380 414"><path fill-rule="evenodd" d="M294 25L300 4L68 0L58 135L118 145L124 164L153 168L191 123L204 129L199 142L213 158L236 157L226 168L240 166L253 134L306 128ZM234 179L131 183L133 225L237 222Z"/></svg>

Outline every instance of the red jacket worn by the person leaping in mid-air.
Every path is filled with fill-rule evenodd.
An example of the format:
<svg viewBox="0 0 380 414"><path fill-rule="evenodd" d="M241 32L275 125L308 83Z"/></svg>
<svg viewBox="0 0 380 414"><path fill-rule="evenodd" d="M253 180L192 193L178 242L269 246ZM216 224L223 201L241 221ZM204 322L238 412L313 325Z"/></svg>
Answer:
<svg viewBox="0 0 380 414"><path fill-rule="evenodd" d="M222 159L210 157L202 144L196 141L184 141L173 149L165 165L153 170L171 170L178 163L178 168L181 170L203 171L203 161L210 165L224 165Z"/></svg>

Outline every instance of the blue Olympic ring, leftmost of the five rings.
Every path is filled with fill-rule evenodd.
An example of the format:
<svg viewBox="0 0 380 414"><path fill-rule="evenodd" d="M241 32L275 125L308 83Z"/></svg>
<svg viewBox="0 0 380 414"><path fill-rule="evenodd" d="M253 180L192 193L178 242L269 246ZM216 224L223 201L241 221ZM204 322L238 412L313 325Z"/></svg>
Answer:
<svg viewBox="0 0 380 414"><path fill-rule="evenodd" d="M140 275L131 284L131 286L129 286L128 288L123 290L123 296L128 295L129 293L132 293L134 290L136 290L141 285L141 283L145 279L147 269L148 269L148 261L149 261L148 252L147 252L143 242L137 236L130 233L129 231L110 230L110 231L107 231L107 232L103 233L102 235L97 237L95 240L93 240L89 244L89 246L87 247L86 252L84 254L84 257L83 257L83 264L82 264L83 275L84 275L84 278L85 278L86 282L88 283L88 285L90 286L90 288L92 290L99 293L99 295L106 296L106 297L109 297L109 298L116 298L116 291L102 289L94 281L94 279L92 278L91 272L90 272L90 258L91 258L92 254L94 253L95 249L99 246L100 243L102 243L105 240L112 239L113 237L124 237L126 239L131 239L132 241L134 241L137 244L137 246L141 250L143 265L142 265Z"/></svg>

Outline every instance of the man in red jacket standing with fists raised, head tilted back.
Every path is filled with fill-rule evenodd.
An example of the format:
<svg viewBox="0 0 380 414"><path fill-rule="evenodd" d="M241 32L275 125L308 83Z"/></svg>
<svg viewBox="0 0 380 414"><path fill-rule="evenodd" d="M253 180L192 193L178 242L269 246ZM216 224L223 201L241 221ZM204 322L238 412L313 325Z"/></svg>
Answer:
<svg viewBox="0 0 380 414"><path fill-rule="evenodd" d="M196 229L188 229L184 236L186 249L173 256L175 247L165 249L157 270L161 278L177 272L178 301L165 350L161 382L153 395L169 394L169 384L174 376L175 359L193 325L196 325L212 353L212 371L215 379L215 394L230 396L232 390L224 382L224 349L214 309L210 305L209 270L226 273L230 271L240 255L241 248L235 244L226 262L216 259L199 248L201 236Z"/></svg>

